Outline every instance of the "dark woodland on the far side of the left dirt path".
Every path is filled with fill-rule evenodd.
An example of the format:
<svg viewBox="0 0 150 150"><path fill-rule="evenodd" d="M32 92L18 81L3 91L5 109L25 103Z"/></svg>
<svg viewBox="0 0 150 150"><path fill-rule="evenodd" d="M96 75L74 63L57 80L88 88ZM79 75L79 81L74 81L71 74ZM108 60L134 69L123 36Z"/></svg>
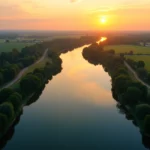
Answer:
<svg viewBox="0 0 150 150"><path fill-rule="evenodd" d="M43 52L44 46L36 44L22 48L21 51L12 49L11 52L0 53L0 86L13 80L16 75L25 67L33 64L39 59Z"/></svg>

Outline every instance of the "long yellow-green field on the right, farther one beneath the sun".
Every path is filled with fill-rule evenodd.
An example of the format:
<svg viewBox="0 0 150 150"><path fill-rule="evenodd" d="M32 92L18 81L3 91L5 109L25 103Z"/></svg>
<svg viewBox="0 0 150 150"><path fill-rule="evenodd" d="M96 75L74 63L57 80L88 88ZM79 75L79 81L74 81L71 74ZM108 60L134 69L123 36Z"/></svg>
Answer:
<svg viewBox="0 0 150 150"><path fill-rule="evenodd" d="M110 45L105 46L105 50L114 49L115 52L118 53L125 53L129 51L133 51L134 53L144 53L150 54L150 47L143 47L143 46L136 46L136 45Z"/></svg>

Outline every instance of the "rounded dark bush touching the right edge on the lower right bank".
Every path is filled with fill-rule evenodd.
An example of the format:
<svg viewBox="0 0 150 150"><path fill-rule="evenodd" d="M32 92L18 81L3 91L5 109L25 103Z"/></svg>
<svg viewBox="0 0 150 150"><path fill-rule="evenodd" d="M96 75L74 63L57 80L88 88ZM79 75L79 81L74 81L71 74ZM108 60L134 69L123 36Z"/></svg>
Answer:
<svg viewBox="0 0 150 150"><path fill-rule="evenodd" d="M140 120L144 120L146 115L150 115L150 105L140 104L136 106L136 116Z"/></svg>

